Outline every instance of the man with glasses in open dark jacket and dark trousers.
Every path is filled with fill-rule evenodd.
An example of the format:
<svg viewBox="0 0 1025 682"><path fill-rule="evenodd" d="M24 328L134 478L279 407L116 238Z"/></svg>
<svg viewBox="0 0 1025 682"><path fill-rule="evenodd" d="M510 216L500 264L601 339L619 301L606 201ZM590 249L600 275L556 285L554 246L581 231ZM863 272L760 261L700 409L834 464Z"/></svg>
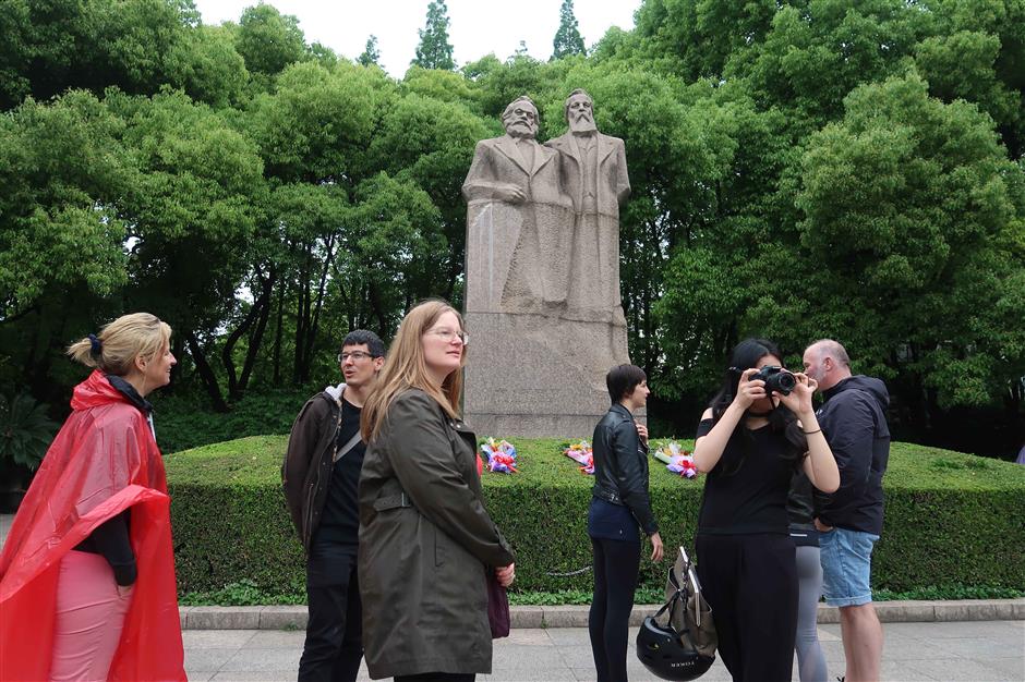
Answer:
<svg viewBox="0 0 1025 682"><path fill-rule="evenodd" d="M281 467L292 523L306 549L310 618L300 681L352 682L363 657L357 488L366 443L360 412L384 366L384 343L372 331L349 332L338 363L345 381L303 405Z"/></svg>

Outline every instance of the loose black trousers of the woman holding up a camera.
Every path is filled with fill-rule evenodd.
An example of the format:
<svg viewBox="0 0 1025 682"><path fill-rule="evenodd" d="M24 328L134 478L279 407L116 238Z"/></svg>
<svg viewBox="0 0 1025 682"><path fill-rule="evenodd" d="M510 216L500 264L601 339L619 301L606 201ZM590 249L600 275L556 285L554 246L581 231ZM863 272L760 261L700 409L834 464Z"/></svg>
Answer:
<svg viewBox="0 0 1025 682"><path fill-rule="evenodd" d="M698 535L698 577L734 682L789 682L797 560L786 535Z"/></svg>

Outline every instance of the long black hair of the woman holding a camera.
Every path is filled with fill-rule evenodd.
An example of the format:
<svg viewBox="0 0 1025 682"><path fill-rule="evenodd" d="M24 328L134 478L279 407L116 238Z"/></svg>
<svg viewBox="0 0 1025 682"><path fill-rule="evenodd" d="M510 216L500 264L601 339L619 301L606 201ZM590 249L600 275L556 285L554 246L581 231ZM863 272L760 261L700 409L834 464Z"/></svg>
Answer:
<svg viewBox="0 0 1025 682"><path fill-rule="evenodd" d="M746 369L756 367L758 361L765 355L774 355L779 357L781 362L783 358L780 348L768 339L745 339L733 349L733 354L729 357L729 366L723 374L722 387L709 404L714 422L719 422L736 397L737 387L740 385L740 375L744 374ZM773 407L765 416L769 419L769 428L773 433L782 433L783 437L786 439L787 447L784 448L783 458L792 460L796 465L808 451L808 437L805 436L804 430L801 430L800 426L797 424L797 416L783 406L783 403ZM737 425L737 429L733 433L733 436L731 436L731 438L737 437L743 439L745 456L740 459L736 470L728 472L727 475L733 475L740 470L740 466L744 464L744 459L747 456L751 444L755 442L755 437L751 435L750 429L746 428L743 422Z"/></svg>

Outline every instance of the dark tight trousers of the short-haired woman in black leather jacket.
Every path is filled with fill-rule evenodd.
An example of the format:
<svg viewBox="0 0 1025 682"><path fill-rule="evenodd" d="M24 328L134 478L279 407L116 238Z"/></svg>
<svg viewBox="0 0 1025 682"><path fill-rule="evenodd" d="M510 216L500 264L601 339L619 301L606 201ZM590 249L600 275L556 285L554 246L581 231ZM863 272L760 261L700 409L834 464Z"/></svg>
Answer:
<svg viewBox="0 0 1025 682"><path fill-rule="evenodd" d="M626 682L630 611L640 567L640 540L592 537L594 598L588 616L598 682Z"/></svg>

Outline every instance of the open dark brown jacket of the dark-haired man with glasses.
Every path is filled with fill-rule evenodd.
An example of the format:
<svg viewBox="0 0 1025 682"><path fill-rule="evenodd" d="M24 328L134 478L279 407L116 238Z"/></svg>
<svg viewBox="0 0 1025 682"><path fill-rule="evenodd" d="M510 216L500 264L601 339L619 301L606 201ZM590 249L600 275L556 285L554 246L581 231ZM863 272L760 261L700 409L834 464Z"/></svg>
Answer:
<svg viewBox="0 0 1025 682"><path fill-rule="evenodd" d="M341 427L342 391L345 383L328 387L306 401L292 424L281 464L285 501L306 550L321 522L331 483L334 453Z"/></svg>

